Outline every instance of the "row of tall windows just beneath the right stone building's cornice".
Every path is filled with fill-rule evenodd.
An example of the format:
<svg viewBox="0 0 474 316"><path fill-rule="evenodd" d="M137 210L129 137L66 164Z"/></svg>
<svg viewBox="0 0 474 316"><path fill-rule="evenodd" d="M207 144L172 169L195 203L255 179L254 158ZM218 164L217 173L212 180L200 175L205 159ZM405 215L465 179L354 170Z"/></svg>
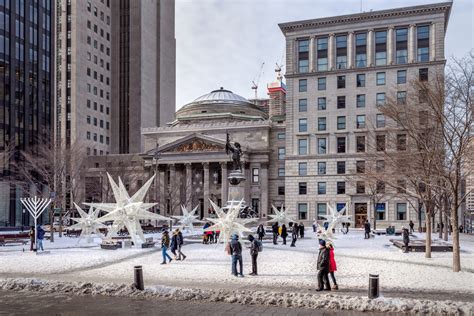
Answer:
<svg viewBox="0 0 474 316"><path fill-rule="evenodd" d="M417 47L417 61L427 62L430 59L429 51L429 39L430 30L429 25L419 25L416 31L416 47ZM387 36L388 30L379 30L375 33L375 45L373 47L372 54L375 53L375 66L387 65L388 59L388 45ZM355 56L352 63L356 68L364 68L368 65L367 63L367 32L357 32L355 34ZM316 38L316 70L327 71L329 69L329 49L328 45L330 37L319 36ZM309 39L298 40L298 72L306 73L309 72ZM335 36L336 50L333 52L333 58L336 57L336 69L346 69L348 67L348 35L338 34ZM408 63L408 28L399 27L395 29L395 63L396 64L407 64Z"/></svg>

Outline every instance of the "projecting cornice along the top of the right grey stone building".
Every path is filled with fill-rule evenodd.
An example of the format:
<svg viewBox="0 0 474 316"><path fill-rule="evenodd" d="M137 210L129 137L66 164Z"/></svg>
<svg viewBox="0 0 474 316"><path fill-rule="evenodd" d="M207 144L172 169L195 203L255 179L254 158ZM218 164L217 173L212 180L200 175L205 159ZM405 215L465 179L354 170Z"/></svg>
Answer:
<svg viewBox="0 0 474 316"><path fill-rule="evenodd" d="M445 28L447 27L452 2L434 3L428 5L419 5L413 7L396 8L381 11L363 12L357 14L341 15L336 17L327 17L320 19L311 19L295 22L280 23L283 34L289 32L314 29L325 26L335 26L342 24L352 24L365 21L386 20L389 18L399 18L407 16L419 16L433 13L443 13L445 16Z"/></svg>

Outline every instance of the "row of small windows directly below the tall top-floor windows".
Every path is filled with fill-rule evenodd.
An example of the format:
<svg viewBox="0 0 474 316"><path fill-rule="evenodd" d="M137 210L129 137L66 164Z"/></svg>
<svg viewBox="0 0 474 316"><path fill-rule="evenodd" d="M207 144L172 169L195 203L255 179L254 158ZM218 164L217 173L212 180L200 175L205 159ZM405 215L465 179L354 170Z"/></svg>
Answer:
<svg viewBox="0 0 474 316"><path fill-rule="evenodd" d="M418 80L428 81L428 68L418 69ZM397 84L405 84L407 82L407 71L398 70L397 71ZM377 72L375 75L375 84L377 86L385 85L386 83L386 73ZM324 91L327 88L327 79L326 77L319 77L317 79L318 91ZM356 74L356 87L363 88L366 86L366 74ZM346 88L346 75L336 77L336 87L337 89ZM298 81L298 91L307 92L308 91L308 79L300 79Z"/></svg>

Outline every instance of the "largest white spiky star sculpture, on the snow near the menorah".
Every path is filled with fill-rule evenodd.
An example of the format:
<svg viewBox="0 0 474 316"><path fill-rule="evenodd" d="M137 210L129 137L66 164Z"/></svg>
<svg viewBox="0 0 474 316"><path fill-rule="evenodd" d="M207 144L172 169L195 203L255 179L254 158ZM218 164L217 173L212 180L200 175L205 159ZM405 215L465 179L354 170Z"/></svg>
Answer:
<svg viewBox="0 0 474 316"><path fill-rule="evenodd" d="M147 209L153 207L156 205L156 203L142 202L145 198L146 192L153 182L153 179L155 178L155 175L153 175L153 177L151 177L132 197L130 197L128 194L127 189L123 185L120 177L119 185L117 185L110 174L107 173L107 176L109 177L110 185L114 193L115 203L84 203L86 205L108 212L107 215L100 218L101 222L114 221L112 229L107 237L116 236L120 229L126 227L133 243L137 245L137 235L143 242L145 242L145 236L143 235L140 220L171 220L169 217L147 211Z"/></svg>

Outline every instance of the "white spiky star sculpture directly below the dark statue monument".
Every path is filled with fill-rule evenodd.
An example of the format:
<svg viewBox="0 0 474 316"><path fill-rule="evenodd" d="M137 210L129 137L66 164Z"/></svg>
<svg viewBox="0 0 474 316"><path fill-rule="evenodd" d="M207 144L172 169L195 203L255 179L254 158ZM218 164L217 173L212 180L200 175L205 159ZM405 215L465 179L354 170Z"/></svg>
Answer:
<svg viewBox="0 0 474 316"><path fill-rule="evenodd" d="M232 205L229 207L227 213L224 212L219 206L214 202L211 202L214 211L217 214L217 218L208 218L207 220L214 223L214 225L206 228L204 231L220 231L219 242L223 242L226 245L229 242L230 237L233 234L238 234L242 236L243 232L252 231L245 227L244 225L254 221L253 218L239 219L240 208L244 200L242 199L237 205Z"/></svg>

